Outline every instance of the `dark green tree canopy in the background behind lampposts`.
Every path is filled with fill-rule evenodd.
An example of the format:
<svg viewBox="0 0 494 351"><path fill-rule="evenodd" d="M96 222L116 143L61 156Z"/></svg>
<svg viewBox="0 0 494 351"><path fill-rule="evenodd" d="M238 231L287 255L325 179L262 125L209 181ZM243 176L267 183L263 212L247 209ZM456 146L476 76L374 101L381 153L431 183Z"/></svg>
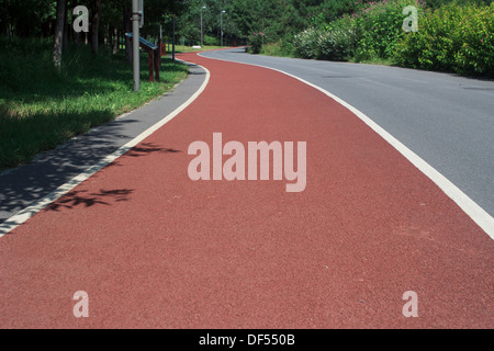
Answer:
<svg viewBox="0 0 494 351"><path fill-rule="evenodd" d="M438 8L452 1L489 4L492 0L426 0L426 3L430 8ZM71 12L77 4L85 4L90 12L94 12L98 1L66 2L66 29L70 32L69 38L78 42L79 37L70 31ZM270 39L277 39L294 35L314 21L327 23L345 13L352 13L367 2L370 0L144 0L145 26L142 33L156 37L159 25L168 33L175 14L178 37L187 38L190 44L198 44L202 14L204 35L209 38L217 39L223 27L231 42L259 32L267 34ZM89 42L92 37L101 43L108 41L108 36L113 33L122 34L127 31L125 21L128 21L131 3L132 0L101 0L98 33L91 33ZM0 0L0 35L21 38L54 37L57 1ZM90 19L93 15L90 13Z"/></svg>

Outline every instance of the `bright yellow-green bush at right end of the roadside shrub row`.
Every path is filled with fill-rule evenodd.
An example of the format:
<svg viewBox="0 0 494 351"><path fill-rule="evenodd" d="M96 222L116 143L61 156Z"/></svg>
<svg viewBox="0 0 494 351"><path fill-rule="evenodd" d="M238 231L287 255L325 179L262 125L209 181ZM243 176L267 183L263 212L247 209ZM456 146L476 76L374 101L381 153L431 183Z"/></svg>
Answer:
<svg viewBox="0 0 494 351"><path fill-rule="evenodd" d="M494 76L494 3L451 3L429 11L394 54L405 67Z"/></svg>

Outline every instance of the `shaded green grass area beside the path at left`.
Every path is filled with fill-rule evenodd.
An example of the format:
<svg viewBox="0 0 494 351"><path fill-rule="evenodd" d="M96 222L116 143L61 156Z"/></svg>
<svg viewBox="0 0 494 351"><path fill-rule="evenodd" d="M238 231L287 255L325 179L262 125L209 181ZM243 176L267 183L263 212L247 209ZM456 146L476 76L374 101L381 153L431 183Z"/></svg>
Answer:
<svg viewBox="0 0 494 351"><path fill-rule="evenodd" d="M164 58L160 82L148 81L147 54L141 59L141 91L133 92L125 54L69 47L59 72L50 41L0 43L0 170L30 161L91 127L162 95L188 75Z"/></svg>

